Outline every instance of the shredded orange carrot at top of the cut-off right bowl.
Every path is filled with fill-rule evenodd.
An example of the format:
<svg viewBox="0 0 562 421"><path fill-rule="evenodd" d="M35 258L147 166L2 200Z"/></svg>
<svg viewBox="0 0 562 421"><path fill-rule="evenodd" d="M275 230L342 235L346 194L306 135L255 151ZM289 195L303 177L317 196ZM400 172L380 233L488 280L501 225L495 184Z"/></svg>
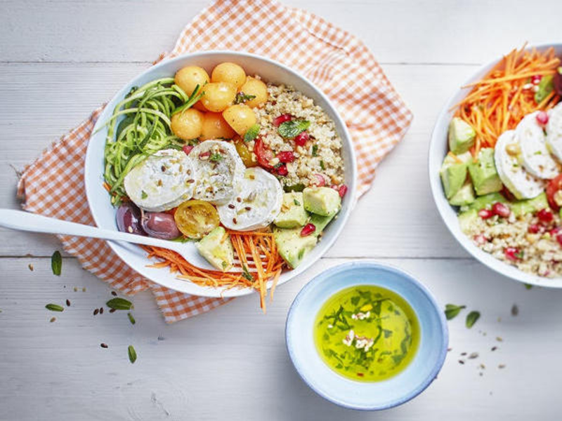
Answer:
<svg viewBox="0 0 562 421"><path fill-rule="evenodd" d="M483 79L464 86L472 91L452 109L476 131L474 156L483 147L494 147L499 135L515 128L525 114L556 105L561 98L554 92L540 104L535 102L530 78L554 74L560 62L554 48L537 51L523 46L505 55Z"/></svg>

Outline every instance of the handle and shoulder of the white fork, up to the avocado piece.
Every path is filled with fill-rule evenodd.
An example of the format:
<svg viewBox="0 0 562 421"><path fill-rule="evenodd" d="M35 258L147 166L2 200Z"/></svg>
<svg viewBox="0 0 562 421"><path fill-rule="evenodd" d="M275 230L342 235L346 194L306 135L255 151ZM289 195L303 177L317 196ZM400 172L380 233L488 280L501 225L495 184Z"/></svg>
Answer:
<svg viewBox="0 0 562 421"><path fill-rule="evenodd" d="M90 225L48 218L46 216L24 212L23 210L13 209L0 209L0 227L18 229L19 231L86 236L93 239L126 241L127 243L162 247L168 250L174 250L176 253L181 254L181 256L192 265L200 267L201 269L216 270L199 254L193 242L178 243L176 241L154 239L148 236L91 227Z"/></svg>

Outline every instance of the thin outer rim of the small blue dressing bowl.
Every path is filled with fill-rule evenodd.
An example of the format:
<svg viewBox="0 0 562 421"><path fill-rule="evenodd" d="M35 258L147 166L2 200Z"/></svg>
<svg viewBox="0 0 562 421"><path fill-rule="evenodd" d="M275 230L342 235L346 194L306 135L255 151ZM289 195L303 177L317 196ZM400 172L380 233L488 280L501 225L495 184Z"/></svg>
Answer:
<svg viewBox="0 0 562 421"><path fill-rule="evenodd" d="M377 269L377 270L381 270L383 272L393 272L394 274L398 274L399 276L402 276L404 279L407 279L407 281L412 283L412 286L414 288L419 290L419 292L421 292L421 294L424 295L429 300L429 302L431 302L431 305L432 305L433 309L436 311L436 314L437 314L438 319L439 319L440 330L443 333L443 340L440 343L440 353L439 353L439 356L438 356L438 361L436 361L436 365L432 368L431 373L426 377L426 379L423 382L421 382L421 384L419 385L419 387L417 387L417 389L414 389L414 390L412 390L412 392L410 392L409 394L401 397L400 399L396 399L395 401L391 401L391 402L389 402L389 403L387 403L386 405L383 405L383 406L351 405L351 404L348 404L345 401L343 401L343 400L341 400L337 397L329 396L328 394L325 394L324 392L322 392L320 389L315 387L313 380L304 376L301 373L299 364L295 362L296 360L295 360L295 352L294 352L293 342L292 342L292 340L289 339L288 326L289 326L289 323L292 321L293 311L294 311L294 309L296 309L296 307L298 307L300 305L301 300L308 293L308 290L313 288L315 286L315 284L318 283L318 282L321 282L321 281L326 282L327 278L329 278L330 276L334 276L335 274L338 274L340 272L345 272L348 269L354 269L354 268ZM414 309L414 312L415 312L415 309ZM421 283L421 281L418 281L412 274L406 272L405 270L400 269L399 267L396 267L396 266L393 266L393 265L382 264L382 263L376 262L374 260L355 260L353 262L346 262L346 263L342 263L341 265L336 265L334 267L330 267L329 269L326 269L325 271L320 272L320 274L316 275L313 279L311 279L311 281L306 283L306 285L303 286L303 288L296 295L296 298L294 299L291 307L289 308L289 313L287 314L287 321L285 322L285 345L287 347L287 352L289 353L289 357L290 357L290 359L293 363L293 366L294 366L296 372L299 373L299 376L301 377L303 382L305 382L306 385L308 385L308 387L313 389L314 392L316 392L318 395L322 396L322 398L326 399L327 401L335 403L336 405L341 406L343 408L354 409L354 410L372 411L372 410L385 410L385 409L394 408L396 406L402 405L403 403L406 403L407 401L410 401L410 400L414 399L416 396L421 394L421 392L424 392L424 390L427 387L429 387L429 385L431 385L431 382L433 382L433 380L436 379L436 377L437 377L438 373L440 372L441 368L443 368L443 364L445 363L445 359L447 357L448 344L449 344L449 328L447 326L447 320L445 319L445 313L443 311L441 311L440 306L439 306L436 298L433 296L433 294L431 293L429 288L424 286L424 284ZM344 377L342 377L342 378L344 378Z"/></svg>

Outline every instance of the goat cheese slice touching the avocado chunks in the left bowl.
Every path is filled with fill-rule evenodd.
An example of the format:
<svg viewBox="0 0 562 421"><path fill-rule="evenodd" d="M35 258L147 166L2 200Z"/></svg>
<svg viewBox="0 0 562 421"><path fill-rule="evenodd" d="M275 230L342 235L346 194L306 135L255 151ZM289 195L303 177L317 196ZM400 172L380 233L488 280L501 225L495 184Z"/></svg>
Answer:
<svg viewBox="0 0 562 421"><path fill-rule="evenodd" d="M236 186L235 196L217 206L221 223L236 231L270 225L281 211L283 188L274 175L259 167L248 168Z"/></svg>

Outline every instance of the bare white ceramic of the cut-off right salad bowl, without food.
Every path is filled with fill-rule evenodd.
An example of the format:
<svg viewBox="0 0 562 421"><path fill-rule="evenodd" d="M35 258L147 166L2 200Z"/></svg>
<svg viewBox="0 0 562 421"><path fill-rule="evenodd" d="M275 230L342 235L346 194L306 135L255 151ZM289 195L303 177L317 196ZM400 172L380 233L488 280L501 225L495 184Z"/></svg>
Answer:
<svg viewBox="0 0 562 421"><path fill-rule="evenodd" d="M556 55L562 57L562 44L542 44L536 47L540 50L554 47ZM445 225L447 225L447 228L455 239L459 241L461 246L473 255L474 258L499 274L508 276L516 281L537 286L547 286L550 288L562 288L562 278L544 278L542 276L528 274L514 266L502 262L502 260L497 260L490 255L490 253L485 253L485 251L476 247L471 239L469 239L461 231L457 220L457 208L451 206L449 202L447 202L447 198L443 192L443 186L441 185L439 170L441 168L441 164L443 163L443 159L445 159L445 154L447 154L447 131L454 114L454 110L449 111L449 109L470 92L470 88L461 89L460 86L465 86L467 83L482 79L482 77L488 73L498 61L499 59L493 60L487 65L481 67L481 69L473 74L469 80L464 83L459 83L459 90L452 95L445 104L445 107L441 110L435 127L433 128L431 143L429 145L429 182L431 184L431 193L433 194L433 199L435 200L439 214L441 215L441 218L443 218L443 222L445 222Z"/></svg>

